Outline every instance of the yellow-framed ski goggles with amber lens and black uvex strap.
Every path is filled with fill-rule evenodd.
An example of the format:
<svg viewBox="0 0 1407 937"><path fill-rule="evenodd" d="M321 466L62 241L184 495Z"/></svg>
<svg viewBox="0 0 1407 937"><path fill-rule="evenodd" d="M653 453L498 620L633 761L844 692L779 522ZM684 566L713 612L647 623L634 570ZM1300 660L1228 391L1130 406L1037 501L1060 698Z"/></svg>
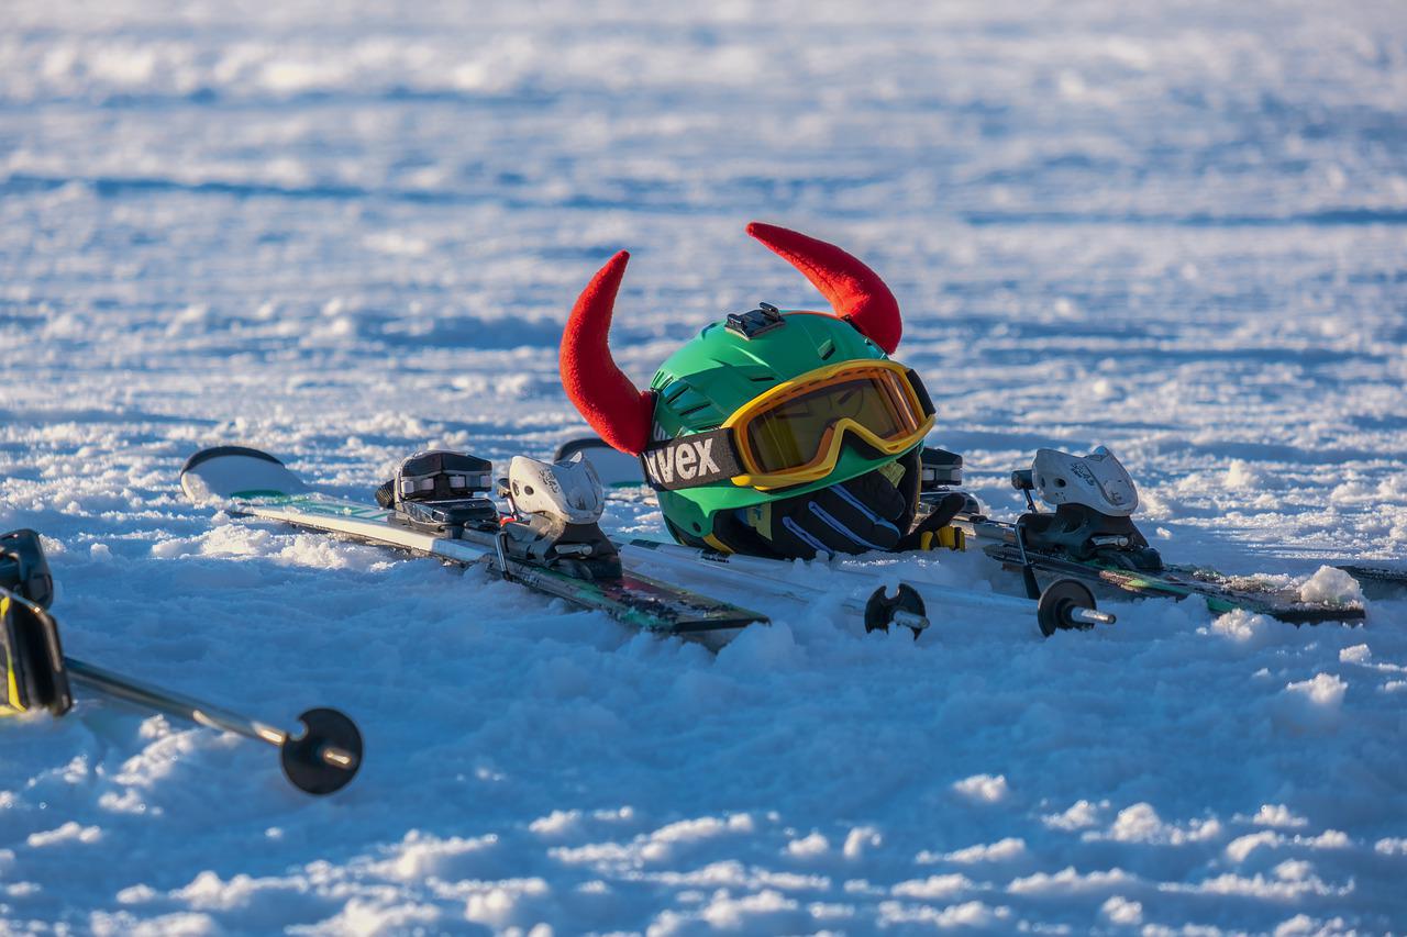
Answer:
<svg viewBox="0 0 1407 937"><path fill-rule="evenodd" d="M715 431L656 443L640 461L664 491L725 478L767 491L825 478L847 440L898 456L933 422L933 401L912 370L888 360L843 362L772 387Z"/></svg>

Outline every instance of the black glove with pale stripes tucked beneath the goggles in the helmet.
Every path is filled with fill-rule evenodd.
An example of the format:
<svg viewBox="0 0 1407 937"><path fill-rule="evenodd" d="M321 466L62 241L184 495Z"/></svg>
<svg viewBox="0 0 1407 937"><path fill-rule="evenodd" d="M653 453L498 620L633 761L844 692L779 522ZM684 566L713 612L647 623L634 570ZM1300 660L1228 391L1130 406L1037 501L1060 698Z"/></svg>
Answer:
<svg viewBox="0 0 1407 937"><path fill-rule="evenodd" d="M746 522L784 557L893 550L912 518L908 499L881 471L830 488L747 508Z"/></svg>

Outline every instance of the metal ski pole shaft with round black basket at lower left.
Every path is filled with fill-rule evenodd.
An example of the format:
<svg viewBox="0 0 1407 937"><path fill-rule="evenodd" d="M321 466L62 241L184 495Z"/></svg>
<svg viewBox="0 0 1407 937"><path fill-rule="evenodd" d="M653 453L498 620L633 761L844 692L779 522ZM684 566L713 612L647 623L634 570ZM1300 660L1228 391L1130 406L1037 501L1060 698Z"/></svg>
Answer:
<svg viewBox="0 0 1407 937"><path fill-rule="evenodd" d="M310 709L298 722L304 732L294 737L281 729L249 719L207 702L182 696L114 674L94 664L65 657L69 677L108 696L177 716L200 726L234 732L279 748L283 772L298 789L308 793L332 793L346 786L362 767L362 733L356 723L336 709Z"/></svg>

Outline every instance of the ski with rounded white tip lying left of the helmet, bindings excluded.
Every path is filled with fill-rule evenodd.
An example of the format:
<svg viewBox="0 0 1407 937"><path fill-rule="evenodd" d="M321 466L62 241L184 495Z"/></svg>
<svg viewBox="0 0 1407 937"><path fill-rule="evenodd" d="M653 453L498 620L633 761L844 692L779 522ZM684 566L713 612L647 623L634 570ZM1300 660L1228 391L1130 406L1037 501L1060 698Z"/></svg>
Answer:
<svg viewBox="0 0 1407 937"><path fill-rule="evenodd" d="M217 446L186 460L182 491L197 502L234 502L238 514L300 528L342 533L367 543L401 547L466 566L483 564L536 592L606 612L622 623L663 635L739 629L767 618L629 570L616 580L587 580L556 568L501 557L490 532L436 536L393 521L376 504L319 492L287 466L257 449ZM507 568L505 568L507 567Z"/></svg>

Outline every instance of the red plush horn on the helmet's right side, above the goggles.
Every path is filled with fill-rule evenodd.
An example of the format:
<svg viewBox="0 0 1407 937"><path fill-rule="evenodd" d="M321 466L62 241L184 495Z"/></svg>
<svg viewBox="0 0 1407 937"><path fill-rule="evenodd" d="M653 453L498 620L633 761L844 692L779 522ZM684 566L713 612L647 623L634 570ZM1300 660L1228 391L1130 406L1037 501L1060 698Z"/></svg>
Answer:
<svg viewBox="0 0 1407 937"><path fill-rule="evenodd" d="M836 245L796 231L754 221L747 225L747 234L806 274L836 315L848 319L885 353L893 355L899 348L903 333L899 304L878 273Z"/></svg>

